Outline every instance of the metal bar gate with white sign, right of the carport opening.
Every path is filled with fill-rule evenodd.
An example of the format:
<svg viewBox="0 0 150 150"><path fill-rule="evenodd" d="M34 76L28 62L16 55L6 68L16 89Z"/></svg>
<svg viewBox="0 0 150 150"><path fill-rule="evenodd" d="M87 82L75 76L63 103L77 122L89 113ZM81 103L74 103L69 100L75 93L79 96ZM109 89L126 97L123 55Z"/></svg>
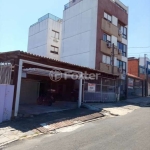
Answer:
<svg viewBox="0 0 150 150"><path fill-rule="evenodd" d="M115 102L116 81L100 78L97 81L88 80L83 86L83 102Z"/></svg>

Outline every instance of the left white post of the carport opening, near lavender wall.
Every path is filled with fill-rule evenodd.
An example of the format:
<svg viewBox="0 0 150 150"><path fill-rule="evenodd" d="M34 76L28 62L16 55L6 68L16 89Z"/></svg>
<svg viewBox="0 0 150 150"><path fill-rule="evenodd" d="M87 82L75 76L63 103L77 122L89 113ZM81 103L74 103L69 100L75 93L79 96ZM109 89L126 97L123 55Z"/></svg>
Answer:
<svg viewBox="0 0 150 150"><path fill-rule="evenodd" d="M16 90L16 101L15 101L15 111L14 111L14 116L15 117L18 115L18 109L19 109L22 65L23 65L23 61L19 60L18 80L17 80L17 90Z"/></svg>

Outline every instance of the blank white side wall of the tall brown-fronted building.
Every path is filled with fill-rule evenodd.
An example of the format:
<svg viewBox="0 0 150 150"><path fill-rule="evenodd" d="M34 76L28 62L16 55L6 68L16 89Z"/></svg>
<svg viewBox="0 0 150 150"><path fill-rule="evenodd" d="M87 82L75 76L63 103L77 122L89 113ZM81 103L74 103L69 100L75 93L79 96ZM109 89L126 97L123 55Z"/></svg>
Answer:
<svg viewBox="0 0 150 150"><path fill-rule="evenodd" d="M95 68L98 0L83 0L64 11L61 60Z"/></svg>

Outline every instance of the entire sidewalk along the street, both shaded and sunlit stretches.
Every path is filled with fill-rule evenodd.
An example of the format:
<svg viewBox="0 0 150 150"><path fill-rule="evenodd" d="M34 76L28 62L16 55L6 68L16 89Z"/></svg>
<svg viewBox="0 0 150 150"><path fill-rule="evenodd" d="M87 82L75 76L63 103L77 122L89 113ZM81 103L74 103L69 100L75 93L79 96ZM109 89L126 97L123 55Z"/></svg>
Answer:
<svg viewBox="0 0 150 150"><path fill-rule="evenodd" d="M150 107L150 97L116 103L88 103L81 109L18 118L0 124L0 147L16 140L32 138L57 129L94 119L126 115L140 107ZM87 109L89 108L89 109Z"/></svg>

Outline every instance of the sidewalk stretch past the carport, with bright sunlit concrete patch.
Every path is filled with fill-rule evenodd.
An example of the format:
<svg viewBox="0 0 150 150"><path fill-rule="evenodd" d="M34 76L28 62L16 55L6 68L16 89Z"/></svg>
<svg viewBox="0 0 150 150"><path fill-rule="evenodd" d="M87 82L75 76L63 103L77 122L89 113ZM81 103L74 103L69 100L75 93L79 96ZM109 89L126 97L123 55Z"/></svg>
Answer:
<svg viewBox="0 0 150 150"><path fill-rule="evenodd" d="M127 99L114 103L85 103L84 107L101 111L106 116L122 116L140 107L150 107L150 97Z"/></svg>

